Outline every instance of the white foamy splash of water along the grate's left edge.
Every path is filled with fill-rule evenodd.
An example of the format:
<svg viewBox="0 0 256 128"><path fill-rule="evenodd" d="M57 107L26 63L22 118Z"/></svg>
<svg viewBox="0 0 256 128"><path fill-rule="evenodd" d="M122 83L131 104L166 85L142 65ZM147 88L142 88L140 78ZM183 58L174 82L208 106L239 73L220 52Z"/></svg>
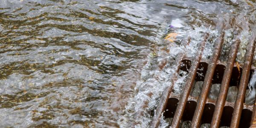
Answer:
<svg viewBox="0 0 256 128"><path fill-rule="evenodd" d="M217 31L204 26L184 25L184 27L171 27L167 30L166 33L178 33L176 40L174 42L164 40L163 35L158 43L161 45L148 54L146 64L141 71L140 81L137 81L134 89L136 94L129 99L124 110L125 116L120 117L119 125L121 127L143 128L148 126L163 90L171 86L170 78L175 74L177 68L177 64L174 64L177 55L184 54L186 57L195 57L204 33L208 32L210 37L203 54L203 58L208 59L218 36ZM182 45L181 42L186 41L188 37L191 37L190 44ZM181 93L187 73L180 71L177 76L173 91ZM165 128L168 124L168 121L162 117L160 127Z"/></svg>

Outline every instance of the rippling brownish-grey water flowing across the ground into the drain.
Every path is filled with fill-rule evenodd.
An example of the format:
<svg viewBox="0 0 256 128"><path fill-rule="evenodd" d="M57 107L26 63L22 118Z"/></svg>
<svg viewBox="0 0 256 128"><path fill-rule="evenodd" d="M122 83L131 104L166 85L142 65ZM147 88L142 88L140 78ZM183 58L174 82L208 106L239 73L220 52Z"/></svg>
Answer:
<svg viewBox="0 0 256 128"><path fill-rule="evenodd" d="M175 58L194 57L204 33L204 58L224 25L220 59L240 38L243 63L255 9L255 0L0 0L0 127L145 128Z"/></svg>

